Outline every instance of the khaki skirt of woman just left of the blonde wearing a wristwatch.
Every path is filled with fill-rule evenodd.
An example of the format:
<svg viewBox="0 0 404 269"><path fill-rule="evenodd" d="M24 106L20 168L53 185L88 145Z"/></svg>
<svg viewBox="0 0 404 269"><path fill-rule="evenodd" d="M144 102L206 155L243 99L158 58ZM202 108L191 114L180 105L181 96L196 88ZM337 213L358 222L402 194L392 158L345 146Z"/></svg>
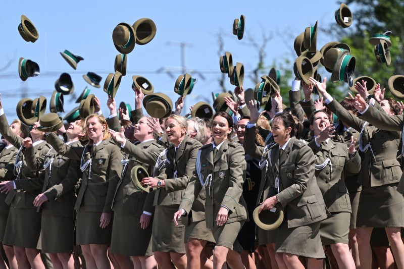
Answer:
<svg viewBox="0 0 404 269"><path fill-rule="evenodd" d="M124 256L151 256L153 219L146 229L140 227L140 217L125 212L114 213L111 253Z"/></svg>

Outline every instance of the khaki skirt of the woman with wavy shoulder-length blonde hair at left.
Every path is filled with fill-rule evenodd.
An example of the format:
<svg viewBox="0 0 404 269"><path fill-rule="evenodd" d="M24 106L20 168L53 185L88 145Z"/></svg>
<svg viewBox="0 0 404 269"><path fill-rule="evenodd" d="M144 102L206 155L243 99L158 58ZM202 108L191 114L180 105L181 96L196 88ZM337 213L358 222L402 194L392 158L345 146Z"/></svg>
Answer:
<svg viewBox="0 0 404 269"><path fill-rule="evenodd" d="M111 245L113 218L110 224L102 229L99 220L102 212L77 210L76 243L77 245L99 244Z"/></svg>

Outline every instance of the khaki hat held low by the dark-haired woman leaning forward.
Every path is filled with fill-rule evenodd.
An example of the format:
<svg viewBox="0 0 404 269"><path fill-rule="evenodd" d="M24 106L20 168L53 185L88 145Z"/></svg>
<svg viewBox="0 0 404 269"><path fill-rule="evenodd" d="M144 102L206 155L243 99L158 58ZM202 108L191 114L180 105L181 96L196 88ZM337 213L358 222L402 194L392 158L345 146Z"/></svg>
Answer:
<svg viewBox="0 0 404 269"><path fill-rule="evenodd" d="M276 204L274 208L276 211L273 212L271 210L262 210L261 213L258 213L261 205L257 206L252 212L252 218L254 222L263 230L271 231L278 228L283 222L283 210L280 209L280 206Z"/></svg>

